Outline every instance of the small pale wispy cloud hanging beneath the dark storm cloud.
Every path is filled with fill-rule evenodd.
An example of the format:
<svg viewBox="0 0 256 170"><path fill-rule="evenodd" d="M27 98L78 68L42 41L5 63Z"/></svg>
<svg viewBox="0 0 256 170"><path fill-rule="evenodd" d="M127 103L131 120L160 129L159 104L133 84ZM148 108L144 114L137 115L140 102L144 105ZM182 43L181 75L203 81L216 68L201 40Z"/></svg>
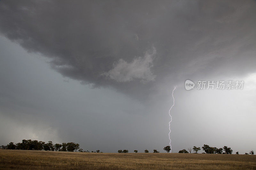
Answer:
<svg viewBox="0 0 256 170"><path fill-rule="evenodd" d="M143 83L154 81L156 75L152 73L151 68L153 67L153 57L155 55L156 48L153 47L151 53L147 51L144 57L136 57L130 63L119 59L117 63L113 64L113 69L103 75L117 82L130 82L134 79L140 79Z"/></svg>

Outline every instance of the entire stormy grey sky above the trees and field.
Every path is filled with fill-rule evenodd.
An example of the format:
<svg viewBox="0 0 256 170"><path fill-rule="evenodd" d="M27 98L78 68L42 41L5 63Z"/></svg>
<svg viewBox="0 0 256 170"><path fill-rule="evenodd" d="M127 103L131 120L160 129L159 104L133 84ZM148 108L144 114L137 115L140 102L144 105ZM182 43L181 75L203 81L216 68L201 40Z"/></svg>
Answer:
<svg viewBox="0 0 256 170"><path fill-rule="evenodd" d="M256 1L0 1L0 144L256 149ZM185 80L244 80L186 91Z"/></svg>

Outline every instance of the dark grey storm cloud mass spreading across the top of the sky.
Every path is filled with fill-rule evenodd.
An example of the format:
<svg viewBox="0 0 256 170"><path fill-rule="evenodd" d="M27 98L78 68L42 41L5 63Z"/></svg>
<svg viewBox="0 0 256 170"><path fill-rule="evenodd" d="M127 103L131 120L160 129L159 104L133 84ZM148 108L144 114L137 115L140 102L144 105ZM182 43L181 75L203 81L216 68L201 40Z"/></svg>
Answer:
<svg viewBox="0 0 256 170"><path fill-rule="evenodd" d="M0 30L49 57L65 77L145 98L166 77L255 70L255 7L255 1L1 1Z"/></svg>

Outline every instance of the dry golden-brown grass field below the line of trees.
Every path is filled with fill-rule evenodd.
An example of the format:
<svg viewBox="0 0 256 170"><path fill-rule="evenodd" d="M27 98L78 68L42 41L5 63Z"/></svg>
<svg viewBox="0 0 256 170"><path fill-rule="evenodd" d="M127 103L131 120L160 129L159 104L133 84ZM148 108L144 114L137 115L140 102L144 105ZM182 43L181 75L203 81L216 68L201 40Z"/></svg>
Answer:
<svg viewBox="0 0 256 170"><path fill-rule="evenodd" d="M256 155L0 150L0 169L256 169Z"/></svg>

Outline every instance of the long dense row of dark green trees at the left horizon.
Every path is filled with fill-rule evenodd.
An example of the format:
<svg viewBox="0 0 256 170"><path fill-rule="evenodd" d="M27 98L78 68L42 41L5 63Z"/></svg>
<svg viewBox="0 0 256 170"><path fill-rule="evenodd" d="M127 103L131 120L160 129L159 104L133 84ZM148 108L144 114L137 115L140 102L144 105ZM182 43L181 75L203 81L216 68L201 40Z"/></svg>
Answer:
<svg viewBox="0 0 256 170"><path fill-rule="evenodd" d="M64 152L76 152L80 148L80 145L74 142L62 143L62 144L53 144L52 141L48 143L37 141L37 140L25 140L23 139L21 143L14 144L10 142L8 145L0 146L0 149L12 149L12 150L37 150L37 151L64 151ZM78 152L89 152L79 149ZM93 152L93 151L92 151ZM97 150L96 152L100 152Z"/></svg>

